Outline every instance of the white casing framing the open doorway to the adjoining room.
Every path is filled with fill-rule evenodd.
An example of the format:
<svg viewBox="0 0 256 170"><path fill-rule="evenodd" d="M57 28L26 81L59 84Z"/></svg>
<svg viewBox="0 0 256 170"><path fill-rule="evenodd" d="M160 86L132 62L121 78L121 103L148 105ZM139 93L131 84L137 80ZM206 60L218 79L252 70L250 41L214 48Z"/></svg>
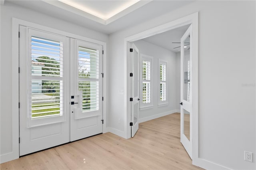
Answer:
<svg viewBox="0 0 256 170"><path fill-rule="evenodd" d="M129 59L129 48L130 43L135 42L150 36L154 36L156 34L160 34L166 31L173 30L175 28L179 28L185 25L191 24L192 25L192 77L193 77L193 86L192 86L192 98L193 98L193 105L192 105L192 164L198 165L199 155L198 155L198 12L194 14L190 14L188 16L184 16L177 20L168 22L166 24L162 24L160 26L156 26L149 30L140 32L133 36L129 36L124 39L124 132L126 134L126 138L130 138L130 119L131 119L131 103L128 100L129 95L131 93L130 79L128 77L128 73L130 73L131 68L130 64L131 61Z"/></svg>

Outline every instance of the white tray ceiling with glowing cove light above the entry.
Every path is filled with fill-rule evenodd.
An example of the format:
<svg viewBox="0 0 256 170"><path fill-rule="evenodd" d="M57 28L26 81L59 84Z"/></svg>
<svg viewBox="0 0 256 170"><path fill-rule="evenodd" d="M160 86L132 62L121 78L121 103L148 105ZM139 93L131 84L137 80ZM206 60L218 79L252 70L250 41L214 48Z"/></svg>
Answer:
<svg viewBox="0 0 256 170"><path fill-rule="evenodd" d="M120 0L121 1L121 0ZM181 6L185 6L193 1L191 0L140 0L136 1L130 7L122 8L121 12L115 14L115 9L121 9L130 1L120 2L118 0L72 0L82 6L87 7L93 11L101 13L106 17L100 18L81 9L74 8L68 4L58 0L5 0L6 3L13 3L24 8L29 8L41 12L46 15L54 16L61 20L66 20L73 24L83 26L92 30L112 34L119 30L129 28L136 24L140 24L146 20L161 16L176 10ZM126 4L127 5L127 4ZM111 17L111 15L113 15ZM108 18L110 17L110 18ZM106 19L108 18L108 19Z"/></svg>

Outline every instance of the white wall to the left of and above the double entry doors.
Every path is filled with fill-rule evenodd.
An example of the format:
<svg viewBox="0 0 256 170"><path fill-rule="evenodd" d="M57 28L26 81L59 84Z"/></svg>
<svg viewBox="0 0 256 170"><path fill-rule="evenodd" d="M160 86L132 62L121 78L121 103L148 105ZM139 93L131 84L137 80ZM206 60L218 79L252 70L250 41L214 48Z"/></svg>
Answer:
<svg viewBox="0 0 256 170"><path fill-rule="evenodd" d="M108 42L108 35L95 32L63 20L18 7L8 1L0 6L1 17L1 108L0 108L0 155L11 153L12 150L12 17L34 22L76 35ZM4 83L3 83L4 82ZM18 97L18 94L16 94ZM17 113L18 114L18 113ZM10 156L12 157L12 156ZM9 157L8 157L9 158Z"/></svg>

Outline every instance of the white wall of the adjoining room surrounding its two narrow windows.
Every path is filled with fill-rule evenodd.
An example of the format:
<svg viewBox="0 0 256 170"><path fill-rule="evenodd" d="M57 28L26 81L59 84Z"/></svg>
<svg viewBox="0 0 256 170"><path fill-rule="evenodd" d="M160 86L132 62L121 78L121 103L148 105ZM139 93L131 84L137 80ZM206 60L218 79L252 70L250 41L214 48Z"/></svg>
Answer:
<svg viewBox="0 0 256 170"><path fill-rule="evenodd" d="M164 49L152 43L139 40L134 42L136 47L139 49L139 54L150 55L153 57L153 73L151 74L153 78L153 89L152 89L152 109L147 109L139 111L139 122L148 121L155 119L160 115L167 115L176 112L175 102L176 102L176 54L168 49ZM167 73L167 92L168 92L168 105L158 107L158 59L164 59L168 62L168 73Z"/></svg>

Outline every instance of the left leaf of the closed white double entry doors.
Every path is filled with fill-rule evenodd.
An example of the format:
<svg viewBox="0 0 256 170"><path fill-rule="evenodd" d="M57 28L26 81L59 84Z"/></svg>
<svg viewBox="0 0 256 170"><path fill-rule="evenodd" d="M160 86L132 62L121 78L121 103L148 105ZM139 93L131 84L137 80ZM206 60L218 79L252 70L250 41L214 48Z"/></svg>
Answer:
<svg viewBox="0 0 256 170"><path fill-rule="evenodd" d="M20 26L19 41L22 156L69 142L69 38Z"/></svg>

